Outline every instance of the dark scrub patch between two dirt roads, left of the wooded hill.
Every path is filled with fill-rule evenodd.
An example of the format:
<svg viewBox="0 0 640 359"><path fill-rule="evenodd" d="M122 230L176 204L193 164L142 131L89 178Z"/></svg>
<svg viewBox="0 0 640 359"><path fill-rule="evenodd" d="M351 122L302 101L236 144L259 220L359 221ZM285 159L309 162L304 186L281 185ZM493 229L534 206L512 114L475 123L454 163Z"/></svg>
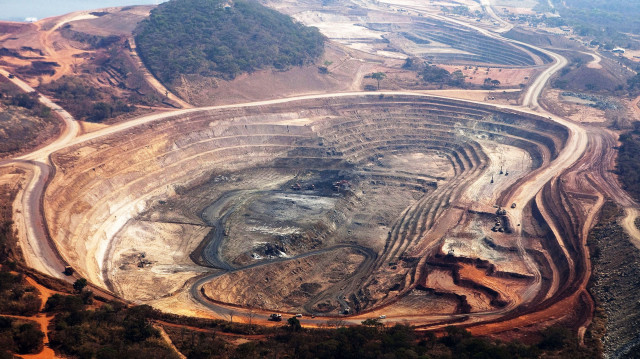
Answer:
<svg viewBox="0 0 640 359"><path fill-rule="evenodd" d="M136 109L123 99L101 93L78 77L62 77L43 85L42 90L60 100L76 118L85 121L103 122Z"/></svg>

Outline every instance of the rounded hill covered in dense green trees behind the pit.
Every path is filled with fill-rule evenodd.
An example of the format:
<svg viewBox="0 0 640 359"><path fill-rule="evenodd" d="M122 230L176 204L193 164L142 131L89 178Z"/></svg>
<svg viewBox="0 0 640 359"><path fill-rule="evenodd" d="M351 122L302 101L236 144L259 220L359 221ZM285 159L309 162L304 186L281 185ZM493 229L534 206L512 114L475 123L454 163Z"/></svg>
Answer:
<svg viewBox="0 0 640 359"><path fill-rule="evenodd" d="M287 15L247 0L172 0L136 30L138 51L165 84L182 74L233 79L318 58L325 38Z"/></svg>

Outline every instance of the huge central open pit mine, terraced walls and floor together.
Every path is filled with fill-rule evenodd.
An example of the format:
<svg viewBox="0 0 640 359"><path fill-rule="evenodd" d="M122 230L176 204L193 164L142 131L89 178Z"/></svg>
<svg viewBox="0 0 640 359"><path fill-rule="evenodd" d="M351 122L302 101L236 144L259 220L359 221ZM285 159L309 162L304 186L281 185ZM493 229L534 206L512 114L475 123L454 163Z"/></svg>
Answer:
<svg viewBox="0 0 640 359"><path fill-rule="evenodd" d="M558 233L578 228L549 212L595 199L522 186L571 135L550 118L402 93L182 112L51 158L52 239L122 298L437 326L517 318L585 280L580 236Z"/></svg>

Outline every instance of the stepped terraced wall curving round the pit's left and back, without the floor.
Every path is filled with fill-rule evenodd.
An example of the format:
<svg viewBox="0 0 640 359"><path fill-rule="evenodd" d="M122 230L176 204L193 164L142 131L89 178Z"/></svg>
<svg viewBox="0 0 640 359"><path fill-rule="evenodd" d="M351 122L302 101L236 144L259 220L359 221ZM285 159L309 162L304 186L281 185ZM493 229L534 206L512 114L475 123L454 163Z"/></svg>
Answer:
<svg viewBox="0 0 640 359"><path fill-rule="evenodd" d="M354 184L366 183L370 191L365 195L362 190L360 197L329 195L338 196L336 213L349 215L356 211L353 208L369 207L369 193L380 200L388 193L396 196L395 202L374 206L379 216L367 213L361 216L362 220L350 218L344 222L351 226L347 226L349 233L347 229L336 229L342 227L331 221L325 223L329 228L325 235L318 233L316 249L354 243L376 253L370 277L340 279L344 281L344 291L350 291L345 297L358 302L364 310L389 302L394 293L415 287L421 278L416 274L419 258L427 253L424 235L460 199L465 186L488 168L489 159L477 141L522 148L535 169L557 156L567 136L564 127L543 117L431 97L376 94L202 111L148 123L54 154L57 172L45 194L45 215L64 258L80 275L113 289L118 286L109 282L120 278L113 277L117 272L114 255L127 245L114 239L121 238L128 226L142 217L147 222L155 218L143 214L159 203L180 198L198 186L210 187L221 175L242 173L248 178L244 190L252 190L252 186L273 189L277 184L281 195L295 184L301 171L334 171ZM438 154L447 159L450 174L439 176L428 171L417 173L403 171L402 167L371 165L385 161L385 156L407 153ZM251 173L258 175L265 168L281 177L269 181L251 177ZM384 191L392 192L385 194L377 187L380 184ZM219 195L212 193L195 196L189 205L192 208L184 209L180 220L172 225L206 227L201 213ZM322 197L322 193L315 196ZM417 198L410 208L406 207L406 196ZM380 224L374 227L379 228L363 230L376 222ZM361 230L366 235L354 234ZM197 266L188 258L199 244L194 238L184 245L186 255L180 252L180 259L169 260L181 265L190 263L190 272L178 279L165 279L166 285L161 283L162 273L134 272L148 288L121 288L119 294L136 299L144 293L144 298L153 299L182 287L189 276L198 274L194 269ZM172 243L185 240L179 235L167 239L166 251L173 250ZM225 242L221 248L225 245L229 244ZM223 257L233 265L247 260L242 253ZM391 269L388 263L396 262L405 264ZM166 264L171 266L171 262ZM162 293L154 294L154 290ZM318 301L316 304L338 305L335 299L325 297L317 295L314 300ZM245 300L248 298L236 298L238 302Z"/></svg>

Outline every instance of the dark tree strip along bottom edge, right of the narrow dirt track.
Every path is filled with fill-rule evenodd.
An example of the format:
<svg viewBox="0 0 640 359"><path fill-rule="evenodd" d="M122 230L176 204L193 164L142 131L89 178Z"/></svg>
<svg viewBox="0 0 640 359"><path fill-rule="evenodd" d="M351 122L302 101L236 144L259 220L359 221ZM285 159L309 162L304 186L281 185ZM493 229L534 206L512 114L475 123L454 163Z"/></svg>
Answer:
<svg viewBox="0 0 640 359"><path fill-rule="evenodd" d="M589 358L569 330L551 327L539 333L540 342L525 345L473 337L458 327L448 327L443 336L420 333L406 325L386 327L378 319L360 326L337 329L304 329L296 318L262 341L237 347L213 334L172 329L173 343L188 358Z"/></svg>

